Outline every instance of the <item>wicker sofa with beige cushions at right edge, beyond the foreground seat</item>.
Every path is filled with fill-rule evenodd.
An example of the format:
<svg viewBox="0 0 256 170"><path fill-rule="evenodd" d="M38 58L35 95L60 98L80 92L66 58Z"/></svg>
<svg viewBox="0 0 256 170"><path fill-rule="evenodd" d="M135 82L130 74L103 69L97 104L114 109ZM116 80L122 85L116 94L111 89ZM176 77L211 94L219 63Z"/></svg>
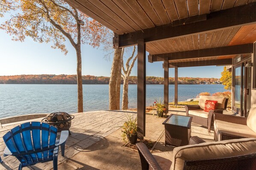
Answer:
<svg viewBox="0 0 256 170"><path fill-rule="evenodd" d="M214 138L222 141L235 138L256 138L256 104L248 118L214 113Z"/></svg>

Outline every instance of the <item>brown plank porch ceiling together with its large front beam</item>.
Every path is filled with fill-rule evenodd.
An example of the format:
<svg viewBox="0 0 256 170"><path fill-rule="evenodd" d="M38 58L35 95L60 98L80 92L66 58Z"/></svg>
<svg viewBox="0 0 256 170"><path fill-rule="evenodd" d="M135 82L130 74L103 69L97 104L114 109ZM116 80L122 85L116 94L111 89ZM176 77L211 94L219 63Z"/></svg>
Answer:
<svg viewBox="0 0 256 170"><path fill-rule="evenodd" d="M256 0L65 1L115 32L117 47L144 39L146 51L153 58L157 54L256 41ZM235 56L206 56L204 60ZM195 60L187 56L176 62Z"/></svg>

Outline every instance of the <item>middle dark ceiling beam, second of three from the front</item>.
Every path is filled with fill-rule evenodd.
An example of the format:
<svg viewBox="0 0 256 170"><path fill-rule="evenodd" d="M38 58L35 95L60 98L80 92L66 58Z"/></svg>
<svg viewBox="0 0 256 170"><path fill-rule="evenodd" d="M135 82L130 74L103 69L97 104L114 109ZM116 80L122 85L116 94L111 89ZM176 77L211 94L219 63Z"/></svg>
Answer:
<svg viewBox="0 0 256 170"><path fill-rule="evenodd" d="M173 61L181 59L215 57L222 55L240 55L247 53L253 53L253 43L235 46L223 46L210 49L196 49L184 52L172 52L165 54L149 55L148 61L152 63L155 61L164 61L164 58L168 58L169 61Z"/></svg>

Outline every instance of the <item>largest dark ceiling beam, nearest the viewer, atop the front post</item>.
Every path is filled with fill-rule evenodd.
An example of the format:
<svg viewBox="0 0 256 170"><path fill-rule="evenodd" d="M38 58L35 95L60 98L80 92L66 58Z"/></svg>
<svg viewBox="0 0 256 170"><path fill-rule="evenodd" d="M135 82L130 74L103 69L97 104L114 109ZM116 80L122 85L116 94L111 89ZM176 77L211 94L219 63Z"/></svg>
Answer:
<svg viewBox="0 0 256 170"><path fill-rule="evenodd" d="M143 29L113 37L114 48L122 48L137 44L137 40L144 39L145 43L168 38L184 37L186 35L201 34L209 31L233 28L256 23L256 3L237 6L231 9L207 14L207 19L195 23L173 26L172 23Z"/></svg>

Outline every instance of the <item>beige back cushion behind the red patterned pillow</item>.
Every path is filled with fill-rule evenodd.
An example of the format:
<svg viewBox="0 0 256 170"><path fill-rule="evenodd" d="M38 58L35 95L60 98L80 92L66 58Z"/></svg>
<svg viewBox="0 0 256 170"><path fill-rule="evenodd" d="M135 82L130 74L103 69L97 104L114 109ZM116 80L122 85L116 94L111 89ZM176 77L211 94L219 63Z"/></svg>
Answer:
<svg viewBox="0 0 256 170"><path fill-rule="evenodd" d="M200 95L199 97L199 106L201 109L205 108L205 101L217 101L217 107L216 109L225 109L225 101L226 98L221 97L221 96L205 96L205 95Z"/></svg>

